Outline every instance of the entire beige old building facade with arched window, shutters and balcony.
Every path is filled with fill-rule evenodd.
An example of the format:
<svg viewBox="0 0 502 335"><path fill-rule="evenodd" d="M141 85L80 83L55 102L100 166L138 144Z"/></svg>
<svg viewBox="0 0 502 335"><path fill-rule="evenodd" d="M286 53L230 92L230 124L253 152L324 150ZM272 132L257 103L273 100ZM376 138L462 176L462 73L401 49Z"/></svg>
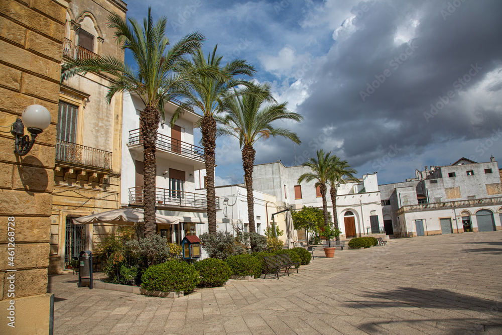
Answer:
<svg viewBox="0 0 502 335"><path fill-rule="evenodd" d="M126 17L120 0L74 0L65 13L63 61L124 52L108 28L111 13ZM50 273L75 266L81 250L97 250L115 228L73 224L72 218L120 207L122 94L110 103L105 74L76 75L64 81L58 97L56 157L51 215Z"/></svg>

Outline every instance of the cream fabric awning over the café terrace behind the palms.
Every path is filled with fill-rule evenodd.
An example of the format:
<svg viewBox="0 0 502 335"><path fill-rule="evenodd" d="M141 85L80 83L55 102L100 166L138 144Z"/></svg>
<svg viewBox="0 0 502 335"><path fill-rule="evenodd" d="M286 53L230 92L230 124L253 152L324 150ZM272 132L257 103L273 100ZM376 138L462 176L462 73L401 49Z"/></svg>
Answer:
<svg viewBox="0 0 502 335"><path fill-rule="evenodd" d="M133 207L114 209L73 219L73 223L76 225L104 223L111 225L134 226L135 223L144 221L145 219L143 217L143 209ZM156 213L155 221L158 224L174 225L177 224L180 220L173 216L166 216Z"/></svg>

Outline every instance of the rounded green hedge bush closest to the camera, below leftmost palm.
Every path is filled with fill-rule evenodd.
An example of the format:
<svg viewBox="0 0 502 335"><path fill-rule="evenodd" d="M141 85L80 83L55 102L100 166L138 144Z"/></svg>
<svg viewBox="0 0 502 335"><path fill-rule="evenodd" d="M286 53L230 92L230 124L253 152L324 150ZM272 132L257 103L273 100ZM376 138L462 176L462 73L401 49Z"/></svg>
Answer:
<svg viewBox="0 0 502 335"><path fill-rule="evenodd" d="M199 283L199 272L192 264L172 260L150 266L141 279L145 290L188 293Z"/></svg>

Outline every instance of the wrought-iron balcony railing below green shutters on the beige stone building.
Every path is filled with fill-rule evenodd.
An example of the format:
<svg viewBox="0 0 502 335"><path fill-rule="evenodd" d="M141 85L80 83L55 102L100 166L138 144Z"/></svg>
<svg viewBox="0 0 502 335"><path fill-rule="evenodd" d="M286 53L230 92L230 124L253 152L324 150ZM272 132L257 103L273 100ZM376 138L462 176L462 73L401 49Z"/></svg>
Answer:
<svg viewBox="0 0 502 335"><path fill-rule="evenodd" d="M111 170L111 152L56 140L56 160Z"/></svg>

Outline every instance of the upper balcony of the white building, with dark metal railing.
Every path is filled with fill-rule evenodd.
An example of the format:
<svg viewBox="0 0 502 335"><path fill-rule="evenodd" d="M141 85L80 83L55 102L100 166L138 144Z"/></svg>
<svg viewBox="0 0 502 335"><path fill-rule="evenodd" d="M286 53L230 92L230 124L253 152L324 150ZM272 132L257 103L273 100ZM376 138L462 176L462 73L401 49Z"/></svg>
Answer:
<svg viewBox="0 0 502 335"><path fill-rule="evenodd" d="M134 129L129 132L129 149L143 150L143 141L140 130ZM163 134L157 134L157 156L178 163L194 166L195 170L205 168L204 149L193 144L173 139Z"/></svg>

